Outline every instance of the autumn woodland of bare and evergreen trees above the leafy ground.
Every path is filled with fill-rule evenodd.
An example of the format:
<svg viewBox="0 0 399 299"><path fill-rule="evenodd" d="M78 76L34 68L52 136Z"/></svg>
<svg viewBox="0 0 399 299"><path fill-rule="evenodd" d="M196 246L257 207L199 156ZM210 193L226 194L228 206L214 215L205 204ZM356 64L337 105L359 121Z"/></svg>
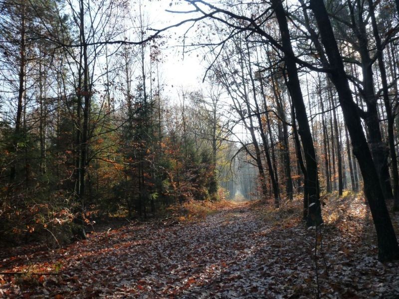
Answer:
<svg viewBox="0 0 399 299"><path fill-rule="evenodd" d="M1 243L236 196L317 232L346 190L398 259L399 1L150 2L0 0ZM197 88L166 91L171 40Z"/></svg>

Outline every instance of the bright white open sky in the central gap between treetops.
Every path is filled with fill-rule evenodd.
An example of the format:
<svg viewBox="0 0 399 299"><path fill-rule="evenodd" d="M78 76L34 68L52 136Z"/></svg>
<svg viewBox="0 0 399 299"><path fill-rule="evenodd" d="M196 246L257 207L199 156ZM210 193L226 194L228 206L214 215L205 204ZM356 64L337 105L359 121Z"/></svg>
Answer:
<svg viewBox="0 0 399 299"><path fill-rule="evenodd" d="M171 3L172 5L170 5ZM143 10L151 24L150 27L154 29L165 28L188 18L200 15L167 11L193 10L192 5L180 0L143 0ZM167 96L171 102L179 101L178 99L179 95L182 93L182 88L187 91L202 89L205 94L206 90L209 88L206 82L202 83L203 76L208 67L208 63L203 61L204 51L202 49L190 51L193 49L186 47L186 53L183 57L182 37L192 25L193 22L189 22L179 27L171 28L163 34L171 36L171 38L168 38L168 42L162 51L164 58L162 68L160 65L162 81L165 83L163 95ZM196 40L198 39L198 32L196 32L195 29L196 27L191 28L189 33L186 34L186 45L189 45L192 41L198 42L198 40ZM189 53L187 53L188 50ZM221 101L230 102L230 98L224 95ZM235 126L233 131L241 140L248 138L248 134L242 126Z"/></svg>

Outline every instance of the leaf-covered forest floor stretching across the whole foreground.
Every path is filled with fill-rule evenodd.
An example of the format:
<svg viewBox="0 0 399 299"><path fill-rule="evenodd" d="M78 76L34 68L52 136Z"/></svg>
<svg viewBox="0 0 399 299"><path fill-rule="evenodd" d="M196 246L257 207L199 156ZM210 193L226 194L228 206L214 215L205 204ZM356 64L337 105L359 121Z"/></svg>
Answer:
<svg viewBox="0 0 399 299"><path fill-rule="evenodd" d="M300 199L279 210L240 201L200 218L104 229L57 250L14 248L1 254L0 272L24 274L0 275L0 297L317 298L319 284L320 298L399 298L399 263L377 261L363 198L324 201L316 258Z"/></svg>

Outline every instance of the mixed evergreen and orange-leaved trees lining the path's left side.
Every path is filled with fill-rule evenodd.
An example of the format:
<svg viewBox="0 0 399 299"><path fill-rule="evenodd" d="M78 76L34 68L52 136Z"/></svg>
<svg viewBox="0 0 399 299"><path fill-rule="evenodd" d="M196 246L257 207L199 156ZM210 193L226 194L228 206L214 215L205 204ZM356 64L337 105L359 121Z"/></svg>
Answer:
<svg viewBox="0 0 399 299"><path fill-rule="evenodd" d="M2 236L55 223L54 234L65 224L84 238L94 214L146 217L174 201L217 199L216 151L228 141L206 104L217 98L195 110L199 97L184 91L183 106L166 105L163 41L150 40L139 6L134 17L116 0L1 2ZM138 41L125 43L127 34Z"/></svg>

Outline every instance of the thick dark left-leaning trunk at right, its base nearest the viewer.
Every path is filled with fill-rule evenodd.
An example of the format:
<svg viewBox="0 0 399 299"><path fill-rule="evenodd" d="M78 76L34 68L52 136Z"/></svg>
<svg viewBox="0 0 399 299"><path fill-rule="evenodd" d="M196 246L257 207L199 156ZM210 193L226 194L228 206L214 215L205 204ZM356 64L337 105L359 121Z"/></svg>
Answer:
<svg viewBox="0 0 399 299"><path fill-rule="evenodd" d="M370 205L377 231L379 260L390 261L399 257L399 246L379 183L379 175L372 161L372 154L363 134L363 128L352 91L345 73L344 64L331 27L323 0L310 0L321 40L331 64L331 80L339 96L345 123L351 136L354 153L359 161L365 183L365 194Z"/></svg>

